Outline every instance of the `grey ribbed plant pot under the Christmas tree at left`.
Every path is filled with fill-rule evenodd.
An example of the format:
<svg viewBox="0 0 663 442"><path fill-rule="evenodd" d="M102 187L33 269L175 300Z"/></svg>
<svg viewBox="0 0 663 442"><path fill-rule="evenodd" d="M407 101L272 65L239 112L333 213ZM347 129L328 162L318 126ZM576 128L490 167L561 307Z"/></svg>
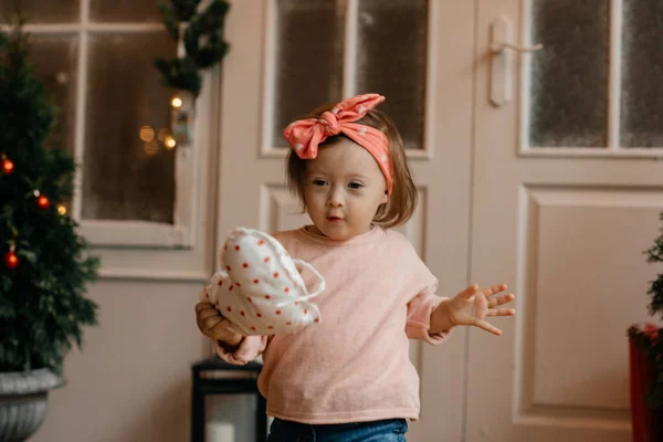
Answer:
<svg viewBox="0 0 663 442"><path fill-rule="evenodd" d="M49 391L63 381L48 368L0 372L0 442L30 438L46 415Z"/></svg>

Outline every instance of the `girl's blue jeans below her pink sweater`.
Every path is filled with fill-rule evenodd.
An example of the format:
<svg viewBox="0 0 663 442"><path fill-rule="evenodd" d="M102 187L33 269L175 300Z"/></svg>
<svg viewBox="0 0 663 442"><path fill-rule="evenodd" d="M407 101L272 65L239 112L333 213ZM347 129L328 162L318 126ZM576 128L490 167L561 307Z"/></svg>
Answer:
<svg viewBox="0 0 663 442"><path fill-rule="evenodd" d="M267 442L404 442L406 432L404 419L316 425L274 419Z"/></svg>

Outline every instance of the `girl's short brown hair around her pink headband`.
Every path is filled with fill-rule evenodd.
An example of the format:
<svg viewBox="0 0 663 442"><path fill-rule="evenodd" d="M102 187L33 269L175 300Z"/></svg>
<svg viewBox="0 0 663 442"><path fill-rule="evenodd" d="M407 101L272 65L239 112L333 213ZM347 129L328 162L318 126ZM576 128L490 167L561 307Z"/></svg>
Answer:
<svg viewBox="0 0 663 442"><path fill-rule="evenodd" d="M323 113L330 110L334 106L335 104L318 107L306 116L306 118L317 118L323 115ZM382 131L387 135L387 139L389 140L389 156L391 157L393 186L389 200L386 203L380 204L376 211L373 222L385 229L404 224L410 217L412 217L412 213L417 208L418 193L412 180L412 172L408 166L408 159L406 158L403 140L391 118L380 110L371 109L356 123ZM340 139L340 137L347 138L345 135L339 134L327 138L325 143L320 144L320 147L333 145ZM306 203L304 202L304 183L306 180L307 160L297 157L295 151L291 149L286 161L286 177L290 190L299 199L304 210L306 210Z"/></svg>

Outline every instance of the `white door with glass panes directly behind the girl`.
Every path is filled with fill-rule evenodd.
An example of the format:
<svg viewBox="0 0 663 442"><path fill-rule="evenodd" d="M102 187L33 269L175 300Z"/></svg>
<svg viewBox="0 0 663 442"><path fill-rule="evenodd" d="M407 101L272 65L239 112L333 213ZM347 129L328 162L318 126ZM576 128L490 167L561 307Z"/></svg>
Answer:
<svg viewBox="0 0 663 442"><path fill-rule="evenodd" d="M441 282L467 283L473 2L233 1L223 61L218 243L238 225L273 232L308 221L284 186L282 128L325 101L361 92L400 127L420 189L402 229ZM398 29L398 32L394 32ZM422 419L409 440L460 441L465 332L413 343Z"/></svg>

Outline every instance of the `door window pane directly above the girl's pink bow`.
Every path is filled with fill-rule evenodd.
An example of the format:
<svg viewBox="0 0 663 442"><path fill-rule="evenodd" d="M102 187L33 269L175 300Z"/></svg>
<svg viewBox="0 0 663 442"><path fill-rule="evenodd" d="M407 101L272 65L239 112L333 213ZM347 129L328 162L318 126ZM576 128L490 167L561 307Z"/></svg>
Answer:
<svg viewBox="0 0 663 442"><path fill-rule="evenodd" d="M345 1L278 0L272 146L313 108L341 98Z"/></svg>

